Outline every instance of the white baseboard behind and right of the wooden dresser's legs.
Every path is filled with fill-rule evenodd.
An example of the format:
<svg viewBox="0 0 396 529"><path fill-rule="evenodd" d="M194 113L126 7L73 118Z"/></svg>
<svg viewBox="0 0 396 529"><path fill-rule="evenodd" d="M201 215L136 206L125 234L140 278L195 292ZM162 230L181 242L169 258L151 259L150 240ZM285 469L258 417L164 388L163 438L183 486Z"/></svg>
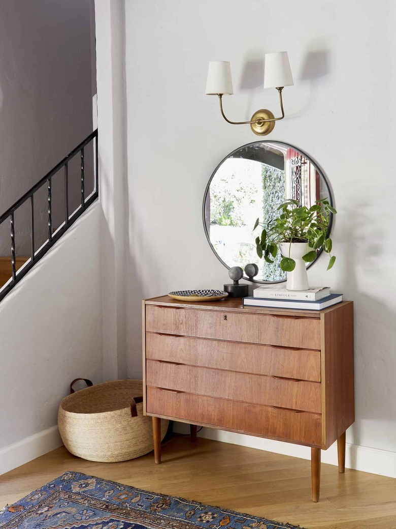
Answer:
<svg viewBox="0 0 396 529"><path fill-rule="evenodd" d="M187 433L190 432L190 428L186 424L175 422L174 431ZM214 430L214 428L203 428L198 435L205 439L249 446L249 448L291 455L297 458L310 459L311 457L310 448L308 446L300 446L299 444L283 443L281 441L253 437L252 435L224 432L222 430ZM322 450L322 463L338 464L337 443L334 443L328 450ZM396 478L396 452L346 443L345 467Z"/></svg>

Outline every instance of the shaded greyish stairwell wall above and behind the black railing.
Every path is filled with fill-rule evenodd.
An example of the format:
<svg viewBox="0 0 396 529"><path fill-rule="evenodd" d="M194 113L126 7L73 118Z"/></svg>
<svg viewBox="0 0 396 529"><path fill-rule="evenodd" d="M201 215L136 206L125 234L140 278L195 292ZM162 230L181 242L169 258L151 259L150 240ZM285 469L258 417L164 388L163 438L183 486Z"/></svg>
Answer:
<svg viewBox="0 0 396 529"><path fill-rule="evenodd" d="M13 0L0 6L0 214L92 132L93 0ZM93 55L93 62L91 57ZM88 179L88 178L87 178ZM89 184L86 184L87 191ZM46 195L36 196L36 243L46 230ZM63 220L63 182L54 181L53 225ZM78 206L79 160L69 170ZM42 221L42 222L41 222ZM16 247L29 254L29 208L16 213ZM0 254L11 255L0 226Z"/></svg>

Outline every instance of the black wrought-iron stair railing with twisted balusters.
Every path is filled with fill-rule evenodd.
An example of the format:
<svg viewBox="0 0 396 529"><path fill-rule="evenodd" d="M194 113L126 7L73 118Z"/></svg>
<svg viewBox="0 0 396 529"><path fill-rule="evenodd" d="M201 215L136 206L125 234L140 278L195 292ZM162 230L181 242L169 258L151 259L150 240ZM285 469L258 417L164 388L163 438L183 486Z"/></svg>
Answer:
<svg viewBox="0 0 396 529"><path fill-rule="evenodd" d="M88 145L91 144L93 148L93 191L88 197L86 197L86 175L85 175L85 151ZM80 171L81 171L81 202L79 207L69 215L69 164L71 160L80 156ZM52 179L64 168L64 221L54 231L53 230L53 199L52 199ZM58 177L58 175L56 175ZM42 189L42 187L48 186L48 238L40 245L40 248L35 248L35 231L34 231L34 194ZM98 179L98 129L93 131L88 138L81 142L76 149L73 149L67 157L63 158L48 174L46 174L37 184L35 184L27 193L25 193L13 206L7 209L2 216L0 216L0 226L4 222L10 222L10 242L11 242L11 265L12 265L12 277L7 283L0 288L0 301L12 290L12 288L26 275L27 272L39 261L46 252L58 241L61 236L69 229L69 227L76 222L78 217L86 211L86 209L98 198L99 191L99 179ZM16 247L15 247L15 212L18 208L23 206L26 201L30 203L30 259L27 259L26 263L20 270L16 270Z"/></svg>

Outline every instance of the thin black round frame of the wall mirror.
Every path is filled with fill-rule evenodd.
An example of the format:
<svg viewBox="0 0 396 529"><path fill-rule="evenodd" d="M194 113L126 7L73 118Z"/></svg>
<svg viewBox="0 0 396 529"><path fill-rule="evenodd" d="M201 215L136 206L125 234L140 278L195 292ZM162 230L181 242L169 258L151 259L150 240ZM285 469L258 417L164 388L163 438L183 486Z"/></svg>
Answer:
<svg viewBox="0 0 396 529"><path fill-rule="evenodd" d="M214 249L213 247L213 244L211 243L211 240L210 240L210 236L209 236L209 233L208 233L208 228L206 227L206 222L205 222L205 204L206 204L206 199L208 198L208 192L209 192L209 188L210 188L210 185L211 185L211 182L213 180L213 177L214 175L216 174L217 170L219 169L219 167L222 165L222 163L224 163L225 160L227 160L228 158L231 158L232 155L235 153L235 152L238 152L239 150L241 149L246 149L247 147L250 147L250 145L257 145L258 143L266 143L266 141L252 141L251 143L247 143L246 145L241 145L241 147L238 147L237 149L234 149L232 152L230 152L229 154L227 154L226 157L224 157L221 162L218 164L218 166L215 168L215 170L212 172L212 176L210 177L209 179L209 182L208 184L206 185L206 188L205 188L205 193L204 193L204 196L203 196L203 203L202 203L202 221L203 221L203 228L204 228L204 231L205 231L205 235L206 235L206 239L208 239L208 242L209 242L209 245L213 251L213 253L215 254L215 256L219 259L219 261L222 263L223 266L225 266L225 268L227 268L228 270L230 270L231 267L229 267L219 256L219 254L216 252L216 250ZM284 141L276 141L276 140L271 140L271 141L268 141L268 143L279 143L280 145L285 145L286 147L288 148L291 148L291 149L294 149L298 152L300 152L301 154L303 154L303 156L305 156L305 158L308 158L309 160L312 161L312 163L315 165L316 167L316 170L318 171L320 177L323 179L327 189L328 189L328 201L330 203L331 206L334 207L334 204L333 204L333 194L332 194L332 190L331 190L331 187L330 187L330 184L324 174L324 171L323 169L318 165L318 163L315 161L314 158L312 158L312 156L309 156L305 151L299 149L298 147L296 147L295 145L291 145L290 143L286 143ZM327 230L327 236L329 236L331 234L331 231L332 231L332 226L333 226L333 214L331 213L330 215L330 219L329 219L329 224L328 224L328 230ZM320 248L320 250L318 251L318 254L316 256L316 259L312 262L309 263L309 265L307 266L307 269L310 268L312 265L314 265L314 263L319 259L320 255L322 254L323 252L323 248ZM248 263L246 263L248 264ZM243 278L242 279L245 279L246 281L250 281L252 283L261 283L261 284L264 284L264 285L269 285L269 284L275 284L275 283L283 283L286 281L286 278L285 279L279 279L278 281L264 281L264 280L261 280L261 279L250 279L248 278L245 273L243 273Z"/></svg>

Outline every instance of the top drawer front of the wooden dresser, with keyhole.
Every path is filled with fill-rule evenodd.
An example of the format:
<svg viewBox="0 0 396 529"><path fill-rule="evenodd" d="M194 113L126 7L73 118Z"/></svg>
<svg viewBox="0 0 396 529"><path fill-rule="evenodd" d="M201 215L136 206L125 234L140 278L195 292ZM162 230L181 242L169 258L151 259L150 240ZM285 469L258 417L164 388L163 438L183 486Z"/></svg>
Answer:
<svg viewBox="0 0 396 529"><path fill-rule="evenodd" d="M320 349L318 318L146 305L146 331Z"/></svg>

